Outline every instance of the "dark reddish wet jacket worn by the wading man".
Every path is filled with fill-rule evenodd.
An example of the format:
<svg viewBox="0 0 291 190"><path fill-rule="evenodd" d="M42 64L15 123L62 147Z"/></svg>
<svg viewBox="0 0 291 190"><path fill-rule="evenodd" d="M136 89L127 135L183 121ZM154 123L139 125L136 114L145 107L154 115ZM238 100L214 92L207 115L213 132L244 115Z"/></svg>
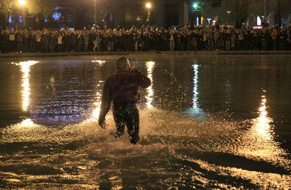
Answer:
<svg viewBox="0 0 291 190"><path fill-rule="evenodd" d="M147 88L151 81L142 75L138 70L118 70L108 77L103 87L99 123L105 120L110 110L111 101L113 104L137 103L139 100L138 88Z"/></svg>

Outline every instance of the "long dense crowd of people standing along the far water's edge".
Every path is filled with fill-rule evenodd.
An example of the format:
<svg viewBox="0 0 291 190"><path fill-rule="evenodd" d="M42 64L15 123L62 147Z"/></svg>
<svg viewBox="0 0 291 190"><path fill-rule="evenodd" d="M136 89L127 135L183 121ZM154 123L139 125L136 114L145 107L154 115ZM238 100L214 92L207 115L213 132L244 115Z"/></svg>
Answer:
<svg viewBox="0 0 291 190"><path fill-rule="evenodd" d="M289 27L233 29L208 26L197 29L163 29L142 26L126 30L2 30L1 53L88 51L197 51L197 50L289 50Z"/></svg>

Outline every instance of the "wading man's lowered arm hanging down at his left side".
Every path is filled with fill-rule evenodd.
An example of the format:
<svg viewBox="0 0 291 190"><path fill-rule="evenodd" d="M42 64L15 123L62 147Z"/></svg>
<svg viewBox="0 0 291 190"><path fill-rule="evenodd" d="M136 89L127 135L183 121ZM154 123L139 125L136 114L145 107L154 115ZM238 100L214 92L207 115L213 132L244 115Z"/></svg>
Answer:
<svg viewBox="0 0 291 190"><path fill-rule="evenodd" d="M106 80L104 87L103 87L103 93L101 98L101 107L100 107L100 114L99 114L99 121L98 124L102 127L102 125L105 124L105 116L110 110L111 101L109 97L110 92L110 84L108 80Z"/></svg>

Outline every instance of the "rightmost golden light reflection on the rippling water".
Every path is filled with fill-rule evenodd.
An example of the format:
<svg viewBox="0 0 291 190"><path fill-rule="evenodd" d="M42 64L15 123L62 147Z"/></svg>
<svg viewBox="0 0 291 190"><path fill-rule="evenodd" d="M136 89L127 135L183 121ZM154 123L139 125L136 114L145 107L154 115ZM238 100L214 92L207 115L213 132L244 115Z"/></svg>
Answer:
<svg viewBox="0 0 291 190"><path fill-rule="evenodd" d="M262 100L259 107L259 117L256 119L256 131L258 132L259 136L265 138L266 140L271 140L270 134L270 122L272 119L267 116L268 112L266 110L266 97L262 95Z"/></svg>

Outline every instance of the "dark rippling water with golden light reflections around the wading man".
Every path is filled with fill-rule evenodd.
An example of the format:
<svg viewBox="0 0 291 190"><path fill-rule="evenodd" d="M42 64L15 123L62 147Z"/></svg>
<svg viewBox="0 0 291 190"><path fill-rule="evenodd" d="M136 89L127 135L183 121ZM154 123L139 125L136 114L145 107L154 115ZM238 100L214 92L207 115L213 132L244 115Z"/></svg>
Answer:
<svg viewBox="0 0 291 190"><path fill-rule="evenodd" d="M118 58L0 60L0 188L291 188L290 56L129 56L137 145L97 126Z"/></svg>

